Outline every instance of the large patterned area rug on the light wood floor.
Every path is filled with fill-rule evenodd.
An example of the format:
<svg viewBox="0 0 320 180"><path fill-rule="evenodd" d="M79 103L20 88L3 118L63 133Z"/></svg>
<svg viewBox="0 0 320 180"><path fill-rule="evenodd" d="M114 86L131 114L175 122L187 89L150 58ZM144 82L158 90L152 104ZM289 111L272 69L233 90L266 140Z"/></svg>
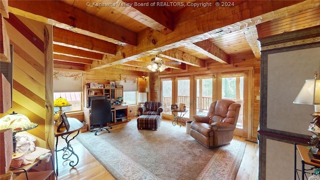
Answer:
<svg viewBox="0 0 320 180"><path fill-rule="evenodd" d="M136 120L113 127L76 138L116 179L234 179L245 149L237 140L208 149L166 120L157 131Z"/></svg>

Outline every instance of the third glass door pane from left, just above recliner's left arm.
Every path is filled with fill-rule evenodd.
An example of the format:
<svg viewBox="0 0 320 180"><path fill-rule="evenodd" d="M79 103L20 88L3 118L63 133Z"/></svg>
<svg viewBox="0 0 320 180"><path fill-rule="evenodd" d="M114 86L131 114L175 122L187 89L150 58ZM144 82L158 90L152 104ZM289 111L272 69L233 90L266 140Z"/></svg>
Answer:
<svg viewBox="0 0 320 180"><path fill-rule="evenodd" d="M212 102L212 78L196 79L196 114L206 115Z"/></svg>

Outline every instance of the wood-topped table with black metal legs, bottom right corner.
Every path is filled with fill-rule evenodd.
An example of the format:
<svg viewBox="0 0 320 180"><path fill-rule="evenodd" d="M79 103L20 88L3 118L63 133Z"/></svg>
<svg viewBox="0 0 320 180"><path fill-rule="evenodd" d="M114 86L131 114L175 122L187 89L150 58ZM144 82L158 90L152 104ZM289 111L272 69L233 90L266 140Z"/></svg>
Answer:
<svg viewBox="0 0 320 180"><path fill-rule="evenodd" d="M299 155L301 156L301 179L304 180L304 177L307 177L305 171L312 170L314 168L320 168L320 164L311 162L311 159L308 155L309 149L306 148L306 146L294 144L294 180L296 179L296 175L298 175L298 179L300 179L298 171L296 169L296 151L298 151ZM305 164L311 165L313 167L311 167L310 169L305 169Z"/></svg>

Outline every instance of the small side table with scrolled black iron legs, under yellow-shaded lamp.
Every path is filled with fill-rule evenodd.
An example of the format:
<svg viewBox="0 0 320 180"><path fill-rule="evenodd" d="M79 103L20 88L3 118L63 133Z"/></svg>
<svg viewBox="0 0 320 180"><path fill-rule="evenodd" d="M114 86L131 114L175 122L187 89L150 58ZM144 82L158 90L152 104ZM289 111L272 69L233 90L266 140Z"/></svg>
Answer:
<svg viewBox="0 0 320 180"><path fill-rule="evenodd" d="M76 162L74 162L73 160L71 160L69 162L69 165L71 167L74 167L78 162L79 162L79 157L78 155L73 151L73 148L71 147L70 141L72 139L74 139L75 136L77 136L79 134L79 130L83 127L83 124L76 118L72 118L72 117L67 117L68 122L70 124L70 128L69 130L66 130L65 127L60 128L60 131L57 132L57 126L54 125L54 136L56 138L56 142L55 142L55 161L56 161L56 175L58 175L58 158L57 158L57 152L60 150L63 150L63 155L62 155L62 159L68 159L69 157L71 157L71 155L74 155L76 157ZM77 132L76 132L77 131ZM75 135L71 135L72 132L76 132ZM66 146L64 146L61 149L57 149L57 145L58 145L58 137L61 136L61 138L63 138L66 142ZM71 136L71 137L69 137Z"/></svg>

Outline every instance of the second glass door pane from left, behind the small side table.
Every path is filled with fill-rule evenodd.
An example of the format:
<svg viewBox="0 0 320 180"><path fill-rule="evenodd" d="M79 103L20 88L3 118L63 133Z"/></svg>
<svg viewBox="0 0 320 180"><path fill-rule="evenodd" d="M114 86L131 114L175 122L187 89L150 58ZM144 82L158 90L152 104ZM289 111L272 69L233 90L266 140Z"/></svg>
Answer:
<svg viewBox="0 0 320 180"><path fill-rule="evenodd" d="M177 103L178 105L180 103L184 103L186 109L190 110L190 80L189 79L180 79L178 80L178 87L177 87L177 92L178 92L178 99ZM185 118L189 118L189 113L184 114Z"/></svg>

